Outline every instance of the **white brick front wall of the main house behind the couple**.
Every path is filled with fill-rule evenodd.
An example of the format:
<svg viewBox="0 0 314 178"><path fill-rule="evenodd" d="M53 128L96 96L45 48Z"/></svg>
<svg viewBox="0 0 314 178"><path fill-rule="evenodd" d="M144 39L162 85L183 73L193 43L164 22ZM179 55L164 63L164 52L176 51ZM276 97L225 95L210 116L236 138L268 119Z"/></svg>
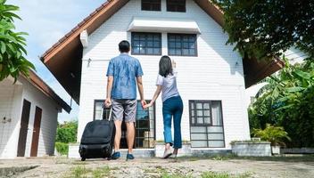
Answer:
<svg viewBox="0 0 314 178"><path fill-rule="evenodd" d="M165 0L162 0L161 12L141 11L140 2L131 0L89 36L89 45L83 53L78 141L87 122L93 119L94 100L105 98L108 61L119 55L118 44L121 40L130 41L131 34L127 29L134 16L193 19L202 31L197 38L198 57L171 57L178 63L178 90L185 106L182 120L183 139L190 140L189 100L222 101L228 149L228 143L232 140L249 139L247 112L244 107L242 60L233 52L233 46L225 45L227 35L219 24L192 0L186 1L185 13L166 12ZM167 53L167 34L162 33L162 54ZM161 56L135 57L141 62L145 73L145 99L150 100L155 90ZM88 59L92 61L88 63ZM163 140L161 98L156 102L156 131L156 139Z"/></svg>

